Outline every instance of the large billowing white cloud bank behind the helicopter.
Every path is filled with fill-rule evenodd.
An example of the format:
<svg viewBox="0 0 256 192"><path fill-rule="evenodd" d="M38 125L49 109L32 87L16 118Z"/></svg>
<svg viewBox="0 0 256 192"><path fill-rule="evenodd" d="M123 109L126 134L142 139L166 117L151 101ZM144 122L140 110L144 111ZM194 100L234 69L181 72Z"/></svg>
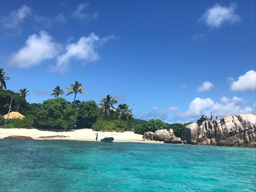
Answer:
<svg viewBox="0 0 256 192"><path fill-rule="evenodd" d="M194 115L210 115L212 112L213 115L227 116L234 115L240 113L252 113L253 108L250 106L242 106L244 100L239 97L233 97L232 99L223 96L220 98L219 102L214 102L211 98L195 98L190 102L189 108L187 111L179 111L175 115L175 119L189 119L195 120L196 117ZM187 117L186 116L194 116Z"/></svg>

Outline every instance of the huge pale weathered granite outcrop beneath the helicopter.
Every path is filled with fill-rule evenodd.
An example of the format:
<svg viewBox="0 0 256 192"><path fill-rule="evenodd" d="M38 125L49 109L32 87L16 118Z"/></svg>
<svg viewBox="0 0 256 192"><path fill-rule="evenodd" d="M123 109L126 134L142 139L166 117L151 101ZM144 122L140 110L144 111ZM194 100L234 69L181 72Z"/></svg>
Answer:
<svg viewBox="0 0 256 192"><path fill-rule="evenodd" d="M200 127L190 124L185 140L193 145L256 147L256 113L204 121Z"/></svg>

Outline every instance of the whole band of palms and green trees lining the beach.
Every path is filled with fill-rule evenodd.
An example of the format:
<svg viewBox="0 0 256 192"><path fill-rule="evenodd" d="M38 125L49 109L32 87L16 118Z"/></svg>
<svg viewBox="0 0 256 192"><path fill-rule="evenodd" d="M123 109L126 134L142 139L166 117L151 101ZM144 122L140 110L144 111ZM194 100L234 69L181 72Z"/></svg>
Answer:
<svg viewBox="0 0 256 192"><path fill-rule="evenodd" d="M176 136L185 131L186 124L174 123L167 124L160 119L151 119L149 122L133 118L133 106L126 103L118 103L111 95L107 95L99 101L99 104L93 100L79 101L76 100L77 94L88 94L84 87L78 81L66 87L67 95L74 94L73 102L59 97L63 95L60 86L56 86L50 95L54 99L48 99L42 103L28 103L26 97L29 95L26 88L22 88L18 93L6 90L6 71L3 69L0 74L0 128L25 128L25 129L69 129L69 128L90 128L94 131L134 131L137 134L144 132L155 132L158 129L173 129ZM3 89L4 88L4 89ZM10 106L10 101L13 98ZM23 119L7 119L4 125L3 115L9 111L19 112L25 117ZM191 123L191 122L190 122ZM190 124L189 123L189 124Z"/></svg>

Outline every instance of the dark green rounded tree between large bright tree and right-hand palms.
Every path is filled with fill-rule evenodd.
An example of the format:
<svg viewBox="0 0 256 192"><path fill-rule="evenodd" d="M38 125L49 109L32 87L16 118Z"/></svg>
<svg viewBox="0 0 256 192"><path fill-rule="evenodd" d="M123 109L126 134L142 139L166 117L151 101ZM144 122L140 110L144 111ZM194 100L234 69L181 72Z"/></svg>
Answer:
<svg viewBox="0 0 256 192"><path fill-rule="evenodd" d="M95 101L82 101L78 108L78 127L91 128L100 115L99 107Z"/></svg>

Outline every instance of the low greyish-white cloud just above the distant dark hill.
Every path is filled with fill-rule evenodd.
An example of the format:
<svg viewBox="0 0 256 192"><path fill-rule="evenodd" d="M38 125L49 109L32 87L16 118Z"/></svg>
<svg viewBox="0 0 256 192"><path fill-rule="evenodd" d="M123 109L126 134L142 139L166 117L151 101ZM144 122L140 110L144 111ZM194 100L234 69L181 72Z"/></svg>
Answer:
<svg viewBox="0 0 256 192"><path fill-rule="evenodd" d="M142 112L140 112L139 114L137 114L137 118L143 119L143 120L150 120L152 118L166 120L168 118L169 113L177 109L178 107L172 106L172 107L166 108L165 110L158 111L158 108L154 106L151 112L149 113L142 114Z"/></svg>

